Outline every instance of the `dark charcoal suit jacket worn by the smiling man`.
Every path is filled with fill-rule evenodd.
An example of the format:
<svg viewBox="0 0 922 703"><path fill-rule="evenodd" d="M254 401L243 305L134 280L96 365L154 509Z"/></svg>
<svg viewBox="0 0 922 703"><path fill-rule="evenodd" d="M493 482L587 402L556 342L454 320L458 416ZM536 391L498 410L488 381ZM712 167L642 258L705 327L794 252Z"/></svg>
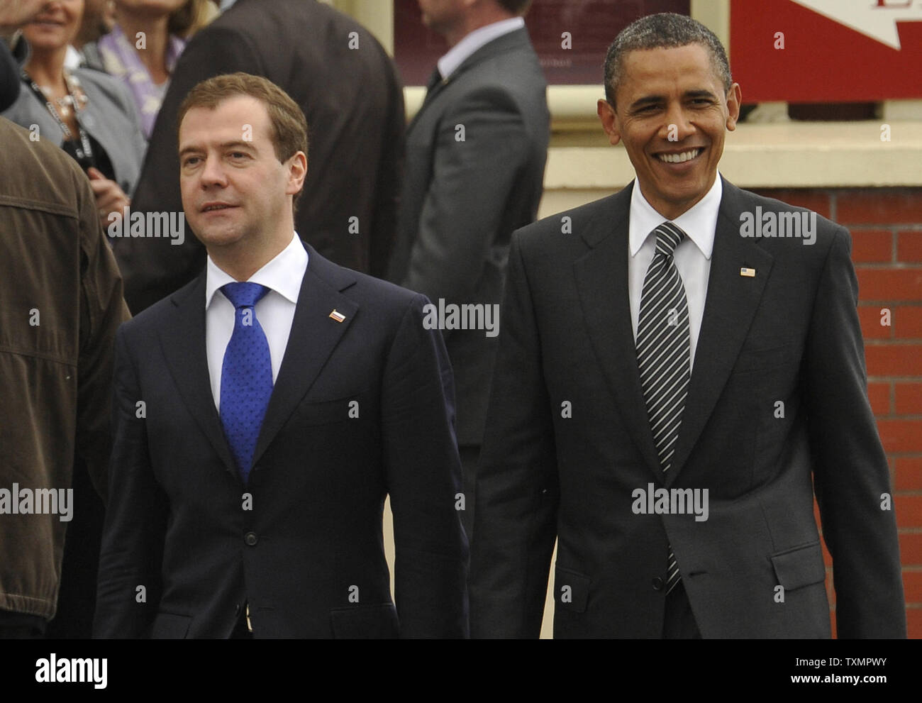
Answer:
<svg viewBox="0 0 922 703"><path fill-rule="evenodd" d="M814 493L838 636L905 637L848 232L817 217L812 245L744 238L740 213L802 210L723 185L665 483L628 299L631 185L515 232L476 489L473 637L538 636L555 537L555 637L660 637L668 544L703 637L829 637ZM708 518L635 514L649 483L708 489Z"/></svg>

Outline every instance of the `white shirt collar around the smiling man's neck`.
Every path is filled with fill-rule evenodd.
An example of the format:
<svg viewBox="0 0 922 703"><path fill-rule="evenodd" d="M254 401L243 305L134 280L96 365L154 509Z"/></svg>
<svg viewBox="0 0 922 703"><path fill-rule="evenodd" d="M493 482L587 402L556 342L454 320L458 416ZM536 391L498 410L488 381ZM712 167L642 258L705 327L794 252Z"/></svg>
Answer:
<svg viewBox="0 0 922 703"><path fill-rule="evenodd" d="M690 209L683 212L672 222L688 235L688 238L701 250L704 258L710 260L714 252L714 235L717 229L717 213L720 200L724 194L724 184L720 173L714 179L714 185L704 197ZM656 212L640 191L637 179L631 192L631 219L629 224L629 245L631 256L637 256L646 238L661 225L666 218Z"/></svg>

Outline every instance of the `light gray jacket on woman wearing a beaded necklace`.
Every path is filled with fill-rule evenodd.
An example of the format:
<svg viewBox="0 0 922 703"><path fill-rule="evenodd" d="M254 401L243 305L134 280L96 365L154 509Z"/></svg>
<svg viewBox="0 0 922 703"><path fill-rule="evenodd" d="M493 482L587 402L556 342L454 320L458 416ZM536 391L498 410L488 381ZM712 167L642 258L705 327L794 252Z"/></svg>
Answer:
<svg viewBox="0 0 922 703"><path fill-rule="evenodd" d="M135 104L124 86L107 74L91 68L77 68L73 75L80 81L88 99L80 124L106 150L115 170L115 181L130 196L147 149ZM26 129L39 125L40 137L59 147L64 142L61 127L27 85L20 86L17 101L3 116Z"/></svg>

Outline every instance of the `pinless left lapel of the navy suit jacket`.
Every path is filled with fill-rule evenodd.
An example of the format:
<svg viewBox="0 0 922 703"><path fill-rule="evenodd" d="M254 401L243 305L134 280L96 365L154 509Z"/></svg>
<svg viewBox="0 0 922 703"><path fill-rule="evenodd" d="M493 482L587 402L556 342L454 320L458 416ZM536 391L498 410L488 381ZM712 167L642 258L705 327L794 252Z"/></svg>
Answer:
<svg viewBox="0 0 922 703"><path fill-rule="evenodd" d="M205 343L205 282L203 271L191 287L173 294L175 324L160 329L160 346L179 394L195 423L207 436L225 468L239 476L224 437L215 399L211 395L211 376Z"/></svg>

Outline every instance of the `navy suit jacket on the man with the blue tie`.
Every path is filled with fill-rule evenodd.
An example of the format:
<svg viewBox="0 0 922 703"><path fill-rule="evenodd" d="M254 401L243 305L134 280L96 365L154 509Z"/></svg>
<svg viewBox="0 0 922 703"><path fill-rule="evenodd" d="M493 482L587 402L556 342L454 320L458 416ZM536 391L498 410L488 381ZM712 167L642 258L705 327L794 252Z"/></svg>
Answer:
<svg viewBox="0 0 922 703"><path fill-rule="evenodd" d="M306 248L247 485L208 380L205 274L120 328L97 637L228 637L244 602L255 637L467 635L453 378L427 300Z"/></svg>

